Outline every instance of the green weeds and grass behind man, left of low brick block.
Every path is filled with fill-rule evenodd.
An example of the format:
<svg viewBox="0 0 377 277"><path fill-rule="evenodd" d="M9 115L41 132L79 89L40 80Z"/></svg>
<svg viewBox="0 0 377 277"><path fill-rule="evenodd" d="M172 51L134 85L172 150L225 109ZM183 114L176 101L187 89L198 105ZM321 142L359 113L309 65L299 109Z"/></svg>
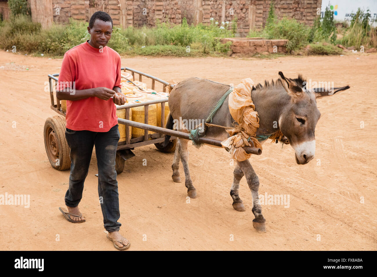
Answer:
<svg viewBox="0 0 377 277"><path fill-rule="evenodd" d="M90 39L87 26L88 23L84 21L71 19L69 24L54 24L43 30L39 23L31 21L30 16L12 16L9 21L0 24L0 32L7 38L0 41L0 48L12 49L15 45L17 51L22 53L61 56L70 48ZM219 24L211 18L209 26L189 26L186 18L183 18L180 25L157 23L154 28L144 26L126 29L114 26L108 46L126 55L225 55L231 43L221 43L220 38L224 37L234 37L229 22Z"/></svg>

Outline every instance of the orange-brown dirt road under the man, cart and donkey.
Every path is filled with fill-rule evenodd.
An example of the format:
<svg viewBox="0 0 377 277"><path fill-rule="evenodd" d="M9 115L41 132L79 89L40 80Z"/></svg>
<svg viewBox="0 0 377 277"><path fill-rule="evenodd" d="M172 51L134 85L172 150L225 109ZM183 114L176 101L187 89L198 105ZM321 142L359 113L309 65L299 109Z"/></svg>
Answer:
<svg viewBox="0 0 377 277"><path fill-rule="evenodd" d="M172 181L173 154L136 148L118 176L121 233L129 250L377 250L377 55L336 57L123 58L122 65L167 81L187 77L238 84L278 78L278 72L351 89L318 99L316 157L297 165L289 145L265 143L251 163L259 194L289 195L289 207L262 205L267 232L252 226L252 197L245 178L239 195L245 212L232 208L233 168L225 150L192 145L190 167L198 198L186 203L184 183ZM0 206L0 250L114 250L106 239L98 201L93 152L80 209L72 224L64 207L69 171L54 170L43 142L49 116L44 82L61 59L0 52L0 194L29 194L30 207ZM27 70L28 68L29 70ZM143 159L147 165L143 166ZM184 176L182 166L181 176ZM233 240L232 240L233 238Z"/></svg>

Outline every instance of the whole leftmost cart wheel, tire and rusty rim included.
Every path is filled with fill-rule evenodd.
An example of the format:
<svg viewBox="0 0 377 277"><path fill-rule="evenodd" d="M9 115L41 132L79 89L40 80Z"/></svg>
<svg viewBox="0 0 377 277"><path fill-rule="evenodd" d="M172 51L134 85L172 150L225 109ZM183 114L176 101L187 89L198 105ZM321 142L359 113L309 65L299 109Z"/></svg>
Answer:
<svg viewBox="0 0 377 277"><path fill-rule="evenodd" d="M44 123L44 148L53 168L66 170L70 168L69 147L65 136L66 121L55 115Z"/></svg>

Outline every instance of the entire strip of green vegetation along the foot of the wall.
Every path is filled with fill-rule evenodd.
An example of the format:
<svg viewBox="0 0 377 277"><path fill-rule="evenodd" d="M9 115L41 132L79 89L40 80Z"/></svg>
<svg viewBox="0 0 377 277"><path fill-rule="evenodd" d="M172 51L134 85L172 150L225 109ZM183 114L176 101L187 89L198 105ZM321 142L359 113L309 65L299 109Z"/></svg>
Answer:
<svg viewBox="0 0 377 277"><path fill-rule="evenodd" d="M27 0L9 0L11 18L0 21L0 32L6 39L0 40L0 49L10 50L17 47L23 54L45 54L62 56L70 48L90 39L88 23L70 19L68 24L54 24L49 29L41 29L39 23L33 23ZM333 47L342 44L345 47L364 46L366 49L377 47L377 31L370 25L371 14L358 9L352 15L351 24L336 23L334 14L328 7L324 17L314 20L312 27L299 23L295 19L277 19L274 1L271 1L268 18L262 30L251 30L248 37L266 39L288 39L287 50L303 54L336 55L340 49ZM203 55L221 56L230 51L231 42L221 43L221 38L234 37L237 31L237 18L231 22L216 22L197 26L187 24L156 23L153 28L114 26L109 47L121 55L152 55L198 57ZM309 43L310 47L306 47ZM259 57L259 56L258 56Z"/></svg>

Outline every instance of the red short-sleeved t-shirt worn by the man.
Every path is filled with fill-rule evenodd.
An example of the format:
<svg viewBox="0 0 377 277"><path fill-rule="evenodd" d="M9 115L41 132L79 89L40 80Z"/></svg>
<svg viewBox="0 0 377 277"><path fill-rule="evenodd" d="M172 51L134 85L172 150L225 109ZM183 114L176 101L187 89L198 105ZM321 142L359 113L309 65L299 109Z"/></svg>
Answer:
<svg viewBox="0 0 377 277"><path fill-rule="evenodd" d="M73 86L78 90L121 87L120 74L121 59L118 52L108 46L95 48L86 41L64 54L57 90ZM66 121L66 127L71 130L107 132L118 124L118 117L112 98L105 101L93 96L67 100Z"/></svg>

